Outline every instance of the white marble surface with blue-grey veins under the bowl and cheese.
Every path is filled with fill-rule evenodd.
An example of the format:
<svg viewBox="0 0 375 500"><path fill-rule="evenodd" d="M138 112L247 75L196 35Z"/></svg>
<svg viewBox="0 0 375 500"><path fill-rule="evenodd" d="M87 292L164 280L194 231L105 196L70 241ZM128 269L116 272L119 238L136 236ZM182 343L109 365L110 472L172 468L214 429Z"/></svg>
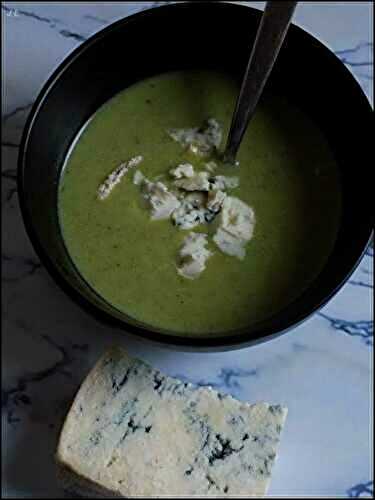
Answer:
<svg viewBox="0 0 375 500"><path fill-rule="evenodd" d="M99 325L57 288L31 248L15 184L17 144L30 104L81 41L149 6L2 4L2 496L63 498L53 464L62 416L93 361L116 342L169 374L240 399L286 404L270 495L373 497L372 249L321 313L287 335L234 352L191 354ZM336 51L372 102L371 19L371 2L301 2L295 22Z"/></svg>

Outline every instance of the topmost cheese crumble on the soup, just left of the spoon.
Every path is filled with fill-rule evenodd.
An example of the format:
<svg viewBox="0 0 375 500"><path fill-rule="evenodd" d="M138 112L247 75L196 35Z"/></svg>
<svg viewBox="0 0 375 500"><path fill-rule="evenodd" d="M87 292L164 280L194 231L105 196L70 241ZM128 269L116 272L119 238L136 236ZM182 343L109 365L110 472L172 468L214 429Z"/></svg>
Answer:
<svg viewBox="0 0 375 500"><path fill-rule="evenodd" d="M201 127L174 128L168 135L176 142L198 156L207 156L219 148L222 140L221 125L209 118Z"/></svg>

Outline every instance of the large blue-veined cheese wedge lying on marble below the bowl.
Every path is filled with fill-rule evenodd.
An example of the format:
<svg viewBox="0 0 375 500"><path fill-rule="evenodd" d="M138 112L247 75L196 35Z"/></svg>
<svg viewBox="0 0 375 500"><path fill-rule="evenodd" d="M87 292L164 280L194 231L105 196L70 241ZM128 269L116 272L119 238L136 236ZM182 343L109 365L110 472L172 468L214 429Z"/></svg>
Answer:
<svg viewBox="0 0 375 500"><path fill-rule="evenodd" d="M65 488L103 497L260 497L287 410L250 405L107 352L66 417Z"/></svg>

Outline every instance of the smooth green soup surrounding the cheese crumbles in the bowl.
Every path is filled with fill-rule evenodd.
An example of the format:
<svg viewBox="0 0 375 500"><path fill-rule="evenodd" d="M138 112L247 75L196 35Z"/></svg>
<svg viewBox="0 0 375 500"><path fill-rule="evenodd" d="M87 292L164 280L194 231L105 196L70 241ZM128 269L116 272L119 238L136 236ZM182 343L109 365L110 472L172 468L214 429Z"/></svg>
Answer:
<svg viewBox="0 0 375 500"><path fill-rule="evenodd" d="M59 213L68 251L86 281L127 315L187 336L222 335L266 319L296 299L322 270L337 234L340 182L320 130L286 100L266 97L238 154L231 194L250 205L254 236L244 260L214 255L196 280L176 272L188 231L151 221L129 172L105 201L97 189L118 165L143 155L141 171L167 177L178 163L199 167L166 134L208 117L223 125L225 143L238 88L212 72L176 72L144 80L116 95L89 121L67 158ZM211 225L193 231L212 233Z"/></svg>

